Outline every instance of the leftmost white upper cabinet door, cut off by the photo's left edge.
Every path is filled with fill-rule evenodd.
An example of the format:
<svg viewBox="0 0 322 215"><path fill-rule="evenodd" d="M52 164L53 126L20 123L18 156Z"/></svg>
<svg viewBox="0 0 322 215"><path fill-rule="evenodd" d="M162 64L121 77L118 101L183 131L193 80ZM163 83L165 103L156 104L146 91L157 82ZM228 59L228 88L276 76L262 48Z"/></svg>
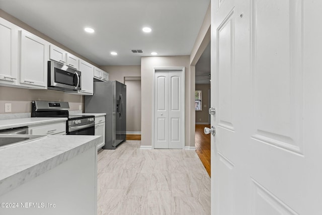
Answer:
<svg viewBox="0 0 322 215"><path fill-rule="evenodd" d="M18 78L18 27L0 18L0 84L16 85Z"/></svg>

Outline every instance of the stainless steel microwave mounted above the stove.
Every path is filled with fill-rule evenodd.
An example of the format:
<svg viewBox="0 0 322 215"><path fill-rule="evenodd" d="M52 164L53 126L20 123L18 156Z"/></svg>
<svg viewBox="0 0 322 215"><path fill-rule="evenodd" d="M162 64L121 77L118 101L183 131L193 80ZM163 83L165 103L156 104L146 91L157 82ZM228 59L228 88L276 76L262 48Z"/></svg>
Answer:
<svg viewBox="0 0 322 215"><path fill-rule="evenodd" d="M55 61L48 61L48 89L81 90L81 71Z"/></svg>

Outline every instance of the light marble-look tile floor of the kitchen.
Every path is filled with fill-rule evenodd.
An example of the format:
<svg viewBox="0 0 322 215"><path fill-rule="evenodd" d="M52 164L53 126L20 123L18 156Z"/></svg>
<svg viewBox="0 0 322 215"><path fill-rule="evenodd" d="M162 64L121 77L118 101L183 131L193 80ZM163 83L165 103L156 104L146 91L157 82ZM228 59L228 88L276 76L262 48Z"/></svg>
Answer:
<svg viewBox="0 0 322 215"><path fill-rule="evenodd" d="M99 153L99 215L210 214L210 177L195 151L139 147Z"/></svg>

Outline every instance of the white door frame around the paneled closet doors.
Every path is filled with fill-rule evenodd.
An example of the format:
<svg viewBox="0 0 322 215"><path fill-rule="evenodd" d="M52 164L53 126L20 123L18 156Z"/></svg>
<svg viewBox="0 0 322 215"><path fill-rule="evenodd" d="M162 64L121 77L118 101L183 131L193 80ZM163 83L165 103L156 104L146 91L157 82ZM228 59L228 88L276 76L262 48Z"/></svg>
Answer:
<svg viewBox="0 0 322 215"><path fill-rule="evenodd" d="M154 92L155 92L155 89L154 89L154 79L155 79L155 73L157 73L158 71L181 71L182 72L182 78L183 78L183 84L181 86L182 88L182 92L184 93L183 97L182 97L182 107L184 107L182 109L182 112L181 112L181 117L182 117L182 149L185 149L185 67L184 66L170 66L170 67L167 67L167 66L163 66L163 67L153 67L152 69L152 89L153 89L153 92L152 92L152 149L154 149L154 117L155 117L155 96L154 96Z"/></svg>

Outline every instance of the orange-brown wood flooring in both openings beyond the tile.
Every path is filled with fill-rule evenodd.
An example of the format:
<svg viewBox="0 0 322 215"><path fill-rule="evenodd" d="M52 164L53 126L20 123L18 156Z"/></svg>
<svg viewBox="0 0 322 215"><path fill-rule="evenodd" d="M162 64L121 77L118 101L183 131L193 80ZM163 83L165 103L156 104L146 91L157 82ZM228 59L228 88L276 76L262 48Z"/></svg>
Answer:
<svg viewBox="0 0 322 215"><path fill-rule="evenodd" d="M204 134L203 128L210 125L196 125L195 147L203 166L211 177L210 171L210 134ZM140 134L126 134L127 140L141 140Z"/></svg>

